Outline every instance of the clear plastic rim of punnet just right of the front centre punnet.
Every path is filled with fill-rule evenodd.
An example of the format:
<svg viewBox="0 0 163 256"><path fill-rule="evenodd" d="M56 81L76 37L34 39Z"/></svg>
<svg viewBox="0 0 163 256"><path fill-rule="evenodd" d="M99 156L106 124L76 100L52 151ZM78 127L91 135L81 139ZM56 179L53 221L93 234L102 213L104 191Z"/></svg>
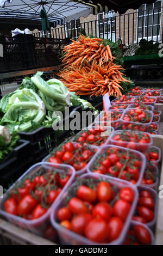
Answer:
<svg viewBox="0 0 163 256"><path fill-rule="evenodd" d="M153 210L154 217L153 217L153 220L151 222L147 222L146 223L146 225L148 227L152 228L152 227L154 227L154 224L156 223L156 217L157 217L157 213L158 213L158 193L155 190L153 190L151 187L147 187L147 186L143 186L143 185L140 185L137 188L139 190L139 193L142 190L148 191L151 194L151 197L153 199L153 203L154 203L154 210ZM137 203L138 203L138 201L137 201Z"/></svg>

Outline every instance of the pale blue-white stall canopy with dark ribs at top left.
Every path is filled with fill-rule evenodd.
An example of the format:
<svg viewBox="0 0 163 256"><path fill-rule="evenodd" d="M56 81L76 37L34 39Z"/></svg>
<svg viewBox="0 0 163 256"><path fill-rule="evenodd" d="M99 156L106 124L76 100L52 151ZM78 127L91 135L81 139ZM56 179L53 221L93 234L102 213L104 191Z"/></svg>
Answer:
<svg viewBox="0 0 163 256"><path fill-rule="evenodd" d="M53 22L54 27L79 19L80 16L87 17L92 12L91 5L71 0L0 0L0 19L41 20L40 11L43 7L48 21Z"/></svg>

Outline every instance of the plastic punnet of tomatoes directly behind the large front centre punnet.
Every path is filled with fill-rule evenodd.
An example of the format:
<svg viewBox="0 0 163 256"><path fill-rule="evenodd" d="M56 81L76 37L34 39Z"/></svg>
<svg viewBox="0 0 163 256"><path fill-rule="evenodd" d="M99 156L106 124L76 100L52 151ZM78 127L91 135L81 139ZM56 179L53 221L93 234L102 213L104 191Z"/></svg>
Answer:
<svg viewBox="0 0 163 256"><path fill-rule="evenodd" d="M93 156L87 170L114 176L137 185L143 178L145 167L146 158L139 151L116 145L105 145Z"/></svg>

